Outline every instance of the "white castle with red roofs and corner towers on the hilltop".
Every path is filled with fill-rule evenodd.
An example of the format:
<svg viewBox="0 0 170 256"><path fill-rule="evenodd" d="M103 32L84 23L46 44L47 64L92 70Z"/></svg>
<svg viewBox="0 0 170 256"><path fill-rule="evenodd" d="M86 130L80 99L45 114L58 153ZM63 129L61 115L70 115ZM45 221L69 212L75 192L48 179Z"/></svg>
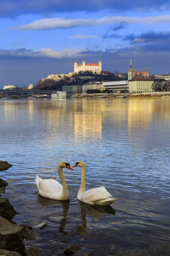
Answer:
<svg viewBox="0 0 170 256"><path fill-rule="evenodd" d="M79 71L92 71L96 74L102 73L102 61L99 61L99 63L85 63L85 60L83 60L82 64L77 64L77 61L74 62L74 73L79 73Z"/></svg>

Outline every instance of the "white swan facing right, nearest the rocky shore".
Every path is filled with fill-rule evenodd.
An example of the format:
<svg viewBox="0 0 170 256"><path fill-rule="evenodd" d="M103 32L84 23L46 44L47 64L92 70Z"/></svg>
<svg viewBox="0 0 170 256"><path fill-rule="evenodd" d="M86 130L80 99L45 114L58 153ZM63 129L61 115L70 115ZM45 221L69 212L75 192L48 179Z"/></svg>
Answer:
<svg viewBox="0 0 170 256"><path fill-rule="evenodd" d="M39 190L38 194L45 198L55 199L55 200L68 200L69 192L67 188L67 184L65 182L65 178L63 175L63 168L71 169L71 166L66 161L61 161L58 165L58 173L61 179L60 184L57 180L47 179L42 180L38 175L36 175L35 182L37 184L37 188Z"/></svg>

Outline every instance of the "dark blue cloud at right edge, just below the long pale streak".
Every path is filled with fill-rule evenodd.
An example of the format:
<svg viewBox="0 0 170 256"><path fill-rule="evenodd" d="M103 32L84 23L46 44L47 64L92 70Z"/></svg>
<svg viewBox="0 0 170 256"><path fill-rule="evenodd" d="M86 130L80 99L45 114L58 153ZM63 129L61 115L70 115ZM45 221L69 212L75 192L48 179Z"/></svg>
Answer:
<svg viewBox="0 0 170 256"><path fill-rule="evenodd" d="M126 35L123 40L130 41L131 43L148 43L148 42L154 42L154 43L160 43L165 41L170 41L170 32L154 32L154 31L148 31L141 33L140 35L130 34Z"/></svg>

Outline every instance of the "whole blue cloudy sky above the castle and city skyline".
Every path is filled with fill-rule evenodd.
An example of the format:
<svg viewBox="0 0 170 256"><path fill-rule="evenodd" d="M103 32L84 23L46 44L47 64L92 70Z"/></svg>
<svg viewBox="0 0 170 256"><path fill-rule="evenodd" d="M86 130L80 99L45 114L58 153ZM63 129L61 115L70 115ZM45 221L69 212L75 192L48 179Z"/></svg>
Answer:
<svg viewBox="0 0 170 256"><path fill-rule="evenodd" d="M0 88L74 71L170 73L169 0L0 0ZM147 70L143 70L147 71Z"/></svg>

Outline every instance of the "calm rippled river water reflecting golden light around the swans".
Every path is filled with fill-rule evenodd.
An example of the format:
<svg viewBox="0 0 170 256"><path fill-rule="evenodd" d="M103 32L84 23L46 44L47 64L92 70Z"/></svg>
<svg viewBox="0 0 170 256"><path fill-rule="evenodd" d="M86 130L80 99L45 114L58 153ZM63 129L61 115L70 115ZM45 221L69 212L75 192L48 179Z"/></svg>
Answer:
<svg viewBox="0 0 170 256"><path fill-rule="evenodd" d="M77 243L89 256L170 255L170 99L0 100L0 172L17 224L35 228L46 256ZM34 181L57 178L59 161L86 163L86 189L111 207L77 200L81 169L64 169L70 201L42 198ZM80 255L80 254L79 254Z"/></svg>

